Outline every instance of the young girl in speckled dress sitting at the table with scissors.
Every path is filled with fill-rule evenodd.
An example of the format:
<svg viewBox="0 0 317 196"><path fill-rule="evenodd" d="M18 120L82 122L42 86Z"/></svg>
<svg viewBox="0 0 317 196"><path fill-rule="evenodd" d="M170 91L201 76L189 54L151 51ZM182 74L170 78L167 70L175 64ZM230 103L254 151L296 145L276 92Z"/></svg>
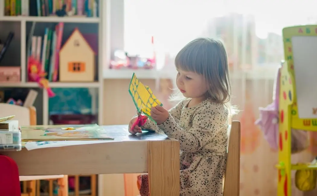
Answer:
<svg viewBox="0 0 317 196"><path fill-rule="evenodd" d="M183 99L171 110L153 107L142 127L129 123L131 134L151 129L180 143L180 196L220 196L227 157L230 78L220 41L198 38L175 58L177 87ZM174 97L175 98L175 97ZM141 196L148 196L147 174L138 177Z"/></svg>

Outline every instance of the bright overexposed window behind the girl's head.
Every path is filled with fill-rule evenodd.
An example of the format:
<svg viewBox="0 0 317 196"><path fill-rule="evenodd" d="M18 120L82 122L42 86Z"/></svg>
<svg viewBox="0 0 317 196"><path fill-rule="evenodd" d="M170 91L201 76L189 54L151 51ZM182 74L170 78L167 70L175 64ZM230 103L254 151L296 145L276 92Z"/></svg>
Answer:
<svg viewBox="0 0 317 196"><path fill-rule="evenodd" d="M223 39L233 66L275 71L283 59L282 28L317 21L310 0L117 0L116 5L122 6L119 1L124 2L121 49L150 55L153 36L158 62L159 56L173 58L190 40L208 36Z"/></svg>

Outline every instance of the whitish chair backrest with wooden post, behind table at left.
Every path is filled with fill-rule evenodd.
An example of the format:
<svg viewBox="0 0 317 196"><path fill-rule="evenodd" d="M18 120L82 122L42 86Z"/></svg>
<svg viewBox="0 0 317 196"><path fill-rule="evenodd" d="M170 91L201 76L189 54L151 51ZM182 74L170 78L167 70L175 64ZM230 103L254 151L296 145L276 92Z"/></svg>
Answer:
<svg viewBox="0 0 317 196"><path fill-rule="evenodd" d="M12 120L18 120L19 126L36 125L36 109L34 106L23 107L14 104L0 103L0 117L16 115Z"/></svg>

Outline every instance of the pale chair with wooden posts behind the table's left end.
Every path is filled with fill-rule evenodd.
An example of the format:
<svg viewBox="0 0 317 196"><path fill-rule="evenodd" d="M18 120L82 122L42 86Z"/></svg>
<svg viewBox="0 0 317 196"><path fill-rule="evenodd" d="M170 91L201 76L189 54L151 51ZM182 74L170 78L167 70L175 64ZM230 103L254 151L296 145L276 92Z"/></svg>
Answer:
<svg viewBox="0 0 317 196"><path fill-rule="evenodd" d="M33 106L26 108L19 105L0 103L0 117L11 115L16 115L13 119L18 120L19 125L21 126L36 125L36 108ZM20 181L23 181L23 190L21 190L21 196L39 196L39 180L49 180L49 195L51 196L53 195L53 188L51 185L53 185L53 180L56 179L60 187L58 196L68 196L67 175L20 176Z"/></svg>

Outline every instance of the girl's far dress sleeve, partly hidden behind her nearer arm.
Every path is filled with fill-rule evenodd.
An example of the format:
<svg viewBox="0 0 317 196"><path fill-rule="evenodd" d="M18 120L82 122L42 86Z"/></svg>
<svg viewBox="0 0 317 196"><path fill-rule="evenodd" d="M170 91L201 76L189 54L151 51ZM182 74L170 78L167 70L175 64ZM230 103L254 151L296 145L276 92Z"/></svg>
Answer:
<svg viewBox="0 0 317 196"><path fill-rule="evenodd" d="M183 101L180 101L173 108L171 108L168 112L170 116L172 116L177 122L179 122L180 115L182 113ZM162 130L158 127L158 125L152 120L147 120L146 123L141 127L143 129L154 130L155 132L162 133Z"/></svg>

